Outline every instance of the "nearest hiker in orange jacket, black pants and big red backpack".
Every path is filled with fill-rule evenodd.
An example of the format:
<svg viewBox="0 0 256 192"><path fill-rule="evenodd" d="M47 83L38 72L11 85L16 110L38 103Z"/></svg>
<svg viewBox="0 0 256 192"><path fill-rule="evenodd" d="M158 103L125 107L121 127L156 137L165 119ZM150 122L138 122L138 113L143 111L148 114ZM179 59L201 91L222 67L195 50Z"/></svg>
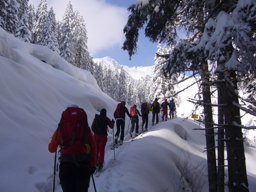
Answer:
<svg viewBox="0 0 256 192"><path fill-rule="evenodd" d="M77 105L69 105L61 115L48 149L60 145L59 178L64 192L88 192L90 176L96 170L96 143L88 126L87 114Z"/></svg>

